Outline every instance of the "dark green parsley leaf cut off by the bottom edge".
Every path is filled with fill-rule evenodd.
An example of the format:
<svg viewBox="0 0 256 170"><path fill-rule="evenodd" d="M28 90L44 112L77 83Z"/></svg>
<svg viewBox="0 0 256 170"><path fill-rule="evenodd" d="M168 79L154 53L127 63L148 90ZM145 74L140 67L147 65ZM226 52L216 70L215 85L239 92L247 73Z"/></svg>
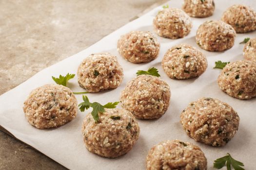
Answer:
<svg viewBox="0 0 256 170"><path fill-rule="evenodd" d="M227 163L226 163L227 162ZM218 158L214 161L214 168L221 169L224 166L227 166L227 170L231 170L231 165L235 170L244 170L242 167L244 164L235 160L229 153L226 156Z"/></svg>

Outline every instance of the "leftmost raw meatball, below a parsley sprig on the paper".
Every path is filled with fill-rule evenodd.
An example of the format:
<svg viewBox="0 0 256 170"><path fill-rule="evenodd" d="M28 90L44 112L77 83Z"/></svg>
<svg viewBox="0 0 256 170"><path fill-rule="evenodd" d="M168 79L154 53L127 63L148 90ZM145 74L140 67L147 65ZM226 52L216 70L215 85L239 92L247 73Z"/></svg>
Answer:
<svg viewBox="0 0 256 170"><path fill-rule="evenodd" d="M27 121L38 129L61 126L77 115L77 99L63 85L43 85L29 94L23 111Z"/></svg>

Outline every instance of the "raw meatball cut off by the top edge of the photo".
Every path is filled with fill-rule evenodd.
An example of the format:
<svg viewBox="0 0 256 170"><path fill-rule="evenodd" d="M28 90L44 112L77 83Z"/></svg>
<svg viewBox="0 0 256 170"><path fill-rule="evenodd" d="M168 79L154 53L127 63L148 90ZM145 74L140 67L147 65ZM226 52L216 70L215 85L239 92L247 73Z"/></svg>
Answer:
<svg viewBox="0 0 256 170"><path fill-rule="evenodd" d="M210 17L215 10L214 0L184 0L182 9L190 17Z"/></svg>

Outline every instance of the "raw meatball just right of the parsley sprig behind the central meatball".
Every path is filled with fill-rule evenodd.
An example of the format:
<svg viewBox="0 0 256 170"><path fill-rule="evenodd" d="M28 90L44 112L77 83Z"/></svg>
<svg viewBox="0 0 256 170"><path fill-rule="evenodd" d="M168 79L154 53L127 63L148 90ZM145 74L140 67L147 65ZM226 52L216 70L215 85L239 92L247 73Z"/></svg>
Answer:
<svg viewBox="0 0 256 170"><path fill-rule="evenodd" d="M162 67L172 79L188 79L198 77L206 70L207 59L192 46L179 44L165 53Z"/></svg>

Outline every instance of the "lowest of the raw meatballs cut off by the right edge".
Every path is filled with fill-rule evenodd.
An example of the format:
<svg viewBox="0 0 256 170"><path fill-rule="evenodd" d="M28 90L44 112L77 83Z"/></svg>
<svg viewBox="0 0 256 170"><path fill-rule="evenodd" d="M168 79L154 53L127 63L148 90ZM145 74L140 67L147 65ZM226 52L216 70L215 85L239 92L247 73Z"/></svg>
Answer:
<svg viewBox="0 0 256 170"><path fill-rule="evenodd" d="M237 99L256 97L256 63L242 60L227 64L218 76L218 86Z"/></svg>

